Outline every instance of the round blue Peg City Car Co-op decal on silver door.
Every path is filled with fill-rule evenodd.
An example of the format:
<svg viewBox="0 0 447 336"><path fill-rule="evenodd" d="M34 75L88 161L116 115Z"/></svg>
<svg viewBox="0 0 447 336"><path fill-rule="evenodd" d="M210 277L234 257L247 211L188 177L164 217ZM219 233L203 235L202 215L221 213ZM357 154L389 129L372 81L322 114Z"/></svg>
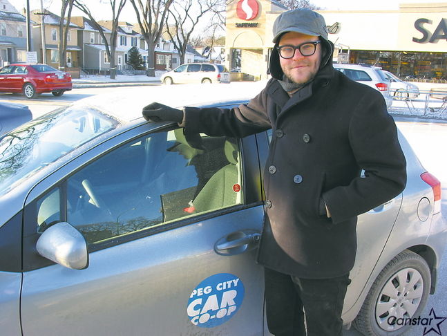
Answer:
<svg viewBox="0 0 447 336"><path fill-rule="evenodd" d="M192 324L213 328L236 315L243 299L244 285L236 275L214 274L193 289L187 313Z"/></svg>

